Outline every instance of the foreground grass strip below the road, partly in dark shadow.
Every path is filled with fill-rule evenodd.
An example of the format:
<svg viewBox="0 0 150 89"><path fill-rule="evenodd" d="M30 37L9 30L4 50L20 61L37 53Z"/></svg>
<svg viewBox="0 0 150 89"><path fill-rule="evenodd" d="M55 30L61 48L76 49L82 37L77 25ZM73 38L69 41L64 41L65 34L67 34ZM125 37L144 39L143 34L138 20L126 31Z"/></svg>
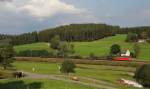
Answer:
<svg viewBox="0 0 150 89"><path fill-rule="evenodd" d="M48 79L0 80L0 89L98 89L81 84L74 84Z"/></svg>

